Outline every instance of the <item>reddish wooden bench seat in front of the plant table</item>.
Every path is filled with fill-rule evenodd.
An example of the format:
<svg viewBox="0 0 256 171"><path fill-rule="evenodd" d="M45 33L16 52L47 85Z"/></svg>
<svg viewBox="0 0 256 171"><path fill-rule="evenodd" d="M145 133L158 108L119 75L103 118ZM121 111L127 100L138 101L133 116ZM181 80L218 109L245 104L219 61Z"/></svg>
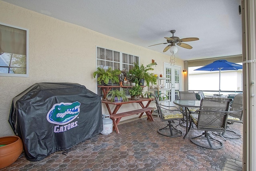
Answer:
<svg viewBox="0 0 256 171"><path fill-rule="evenodd" d="M114 124L114 128L113 130L116 130L116 133L120 133L117 127L117 124L119 123L119 121L121 120L122 117L125 116L130 116L130 115L134 115L134 114L140 114L140 117L142 116L142 114L145 112L146 115L148 116L148 120L150 121L154 121L153 117L152 117L152 112L155 108L154 107L146 107L146 108L142 108L142 109L137 109L137 110L132 110L132 111L126 111L126 112L122 112L122 113L116 113L114 115L110 115L110 118L113 121ZM139 117L139 118L140 118Z"/></svg>

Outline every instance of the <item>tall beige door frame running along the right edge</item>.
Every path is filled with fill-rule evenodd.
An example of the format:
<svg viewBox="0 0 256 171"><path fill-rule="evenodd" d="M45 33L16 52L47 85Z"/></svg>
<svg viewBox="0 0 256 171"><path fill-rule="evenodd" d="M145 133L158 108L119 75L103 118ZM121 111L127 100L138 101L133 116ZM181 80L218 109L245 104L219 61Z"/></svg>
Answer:
<svg viewBox="0 0 256 171"><path fill-rule="evenodd" d="M243 56L243 170L256 170L256 2L241 0Z"/></svg>

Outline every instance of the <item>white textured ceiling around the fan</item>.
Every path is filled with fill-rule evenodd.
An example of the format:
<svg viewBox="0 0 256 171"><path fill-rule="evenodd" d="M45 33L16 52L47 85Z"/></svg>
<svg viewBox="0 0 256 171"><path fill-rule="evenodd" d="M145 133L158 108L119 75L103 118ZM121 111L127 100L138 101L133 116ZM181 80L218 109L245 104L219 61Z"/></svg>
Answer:
<svg viewBox="0 0 256 171"><path fill-rule="evenodd" d="M166 42L170 30L179 38L199 38L185 42L191 50L177 46L182 60L242 54L240 0L3 1L157 52L168 44L148 46Z"/></svg>

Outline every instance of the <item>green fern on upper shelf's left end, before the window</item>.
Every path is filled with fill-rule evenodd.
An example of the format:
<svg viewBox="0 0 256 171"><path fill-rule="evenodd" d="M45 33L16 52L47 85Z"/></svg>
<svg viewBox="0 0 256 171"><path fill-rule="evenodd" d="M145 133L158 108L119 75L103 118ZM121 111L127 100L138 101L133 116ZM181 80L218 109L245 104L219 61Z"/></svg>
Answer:
<svg viewBox="0 0 256 171"><path fill-rule="evenodd" d="M111 67L106 70L102 67L98 67L97 70L93 73L93 77L97 76L98 84L108 84L110 81L112 84L118 83L118 75L121 74L121 71L118 69L112 70Z"/></svg>

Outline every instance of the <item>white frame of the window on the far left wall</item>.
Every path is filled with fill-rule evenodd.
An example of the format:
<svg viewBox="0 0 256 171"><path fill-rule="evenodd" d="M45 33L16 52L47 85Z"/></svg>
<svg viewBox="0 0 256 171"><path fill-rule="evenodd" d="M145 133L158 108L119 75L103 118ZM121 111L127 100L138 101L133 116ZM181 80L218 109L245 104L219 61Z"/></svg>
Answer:
<svg viewBox="0 0 256 171"><path fill-rule="evenodd" d="M8 27L11 27L11 28L16 28L16 29L20 29L20 30L24 30L26 31L26 74L14 74L14 73L0 73L0 76L7 76L7 77L28 77L28 66L29 66L29 61L28 61L28 54L29 54L29 30L27 28L22 28L22 27L19 27L19 26L12 26L10 24L5 24L5 23L2 23L0 22L0 25L3 25L3 26L8 26ZM1 40L0 40L1 41ZM12 54L12 53L9 53L9 54ZM6 67L7 68L7 67ZM8 68L10 68L10 66L8 66Z"/></svg>

